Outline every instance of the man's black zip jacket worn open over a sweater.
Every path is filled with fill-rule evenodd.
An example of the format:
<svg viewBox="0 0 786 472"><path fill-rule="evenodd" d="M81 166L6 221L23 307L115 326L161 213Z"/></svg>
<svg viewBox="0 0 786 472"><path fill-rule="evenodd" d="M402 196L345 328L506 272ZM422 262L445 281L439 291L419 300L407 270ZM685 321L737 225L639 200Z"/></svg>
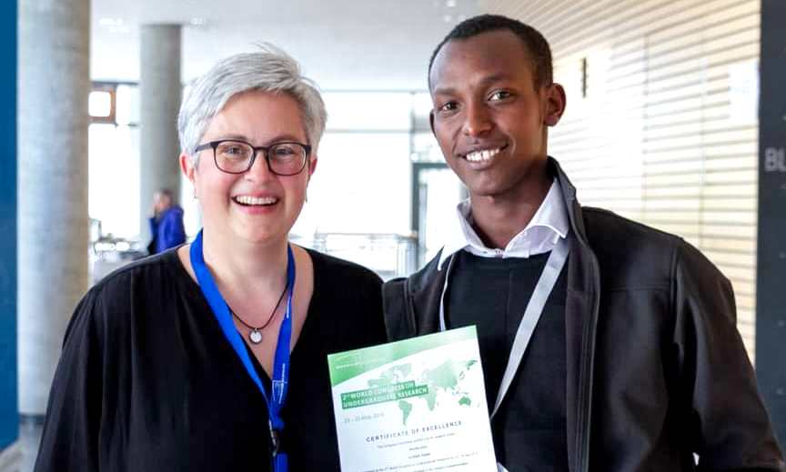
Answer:
<svg viewBox="0 0 786 472"><path fill-rule="evenodd" d="M680 237L582 208L559 164L549 158L549 167L572 230L570 470L786 470L735 326L729 280ZM390 340L438 331L438 257L384 286Z"/></svg>

